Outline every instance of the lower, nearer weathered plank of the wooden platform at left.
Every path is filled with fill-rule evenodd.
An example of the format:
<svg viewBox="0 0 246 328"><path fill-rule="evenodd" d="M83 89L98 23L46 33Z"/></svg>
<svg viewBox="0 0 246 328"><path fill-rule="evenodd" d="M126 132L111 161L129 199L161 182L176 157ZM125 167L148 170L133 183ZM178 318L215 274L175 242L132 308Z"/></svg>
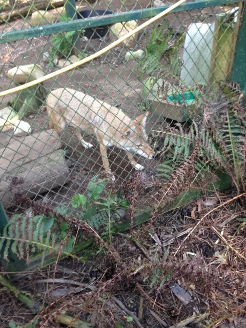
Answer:
<svg viewBox="0 0 246 328"><path fill-rule="evenodd" d="M24 193L33 198L52 189L63 186L69 180L69 170L62 150L56 150L30 161L20 167L18 174L13 171L0 181L0 199L5 209L15 204L15 195Z"/></svg>

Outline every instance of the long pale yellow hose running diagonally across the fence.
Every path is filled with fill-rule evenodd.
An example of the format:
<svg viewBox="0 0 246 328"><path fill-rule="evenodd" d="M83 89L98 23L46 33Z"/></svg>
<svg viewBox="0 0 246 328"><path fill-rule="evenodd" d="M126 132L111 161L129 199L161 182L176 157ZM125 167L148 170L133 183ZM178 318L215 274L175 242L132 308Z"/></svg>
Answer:
<svg viewBox="0 0 246 328"><path fill-rule="evenodd" d="M50 73L48 75L45 75L45 76L42 76L42 77L39 77L37 78L36 80L34 81L30 81L22 86L18 86L18 87L15 87L15 88L12 88L12 89L9 89L9 90L5 90L5 91L2 91L0 92L0 97L3 97L3 96L6 96L8 94L11 94L11 93L14 93L14 92L18 92L18 91L21 91L21 90L24 90L24 89L27 89L29 87L32 87L32 86L35 86L37 85L38 83L42 83L52 77L55 77L55 76L58 76L60 74L63 74L65 72L68 72L80 65L83 65L85 63L88 63L88 61L92 60L92 59L95 59L97 57L99 57L100 55L104 54L105 52L109 51L110 49L116 47L117 45L119 45L121 42L125 41L128 37L132 36L133 34L141 31L142 29L146 28L148 25L154 23L157 19L167 15L168 13L170 13L170 11L172 11L174 8L178 7L179 5L185 3L186 0L179 0L176 4L173 4L171 7L169 7L168 9L162 11L161 13L159 13L158 15L156 15L155 17L152 17L150 18L149 20L147 20L147 22L139 25L138 27L136 27L134 30L130 31L129 33L127 33L126 35L120 37L119 39L117 39L116 41L114 41L113 43L111 43L109 46L105 47L104 49L101 49L99 51L97 51L96 53L84 58L84 59L81 59L79 61L77 61L76 63L74 64L71 64L69 66L66 66L64 68L61 68L60 70L57 70L53 73Z"/></svg>

